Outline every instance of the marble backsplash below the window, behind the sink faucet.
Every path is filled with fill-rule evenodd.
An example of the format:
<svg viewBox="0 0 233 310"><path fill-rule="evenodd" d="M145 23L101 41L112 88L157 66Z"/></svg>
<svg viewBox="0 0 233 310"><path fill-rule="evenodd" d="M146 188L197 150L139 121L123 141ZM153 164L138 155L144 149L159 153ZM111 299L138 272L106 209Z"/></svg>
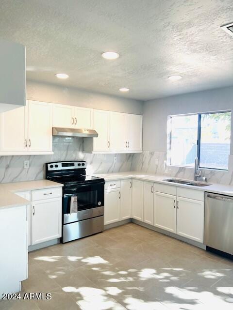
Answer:
<svg viewBox="0 0 233 310"><path fill-rule="evenodd" d="M143 151L134 154L131 169L182 179L193 179L194 173L193 168L167 166L166 152ZM208 182L233 185L233 155L229 155L229 171L202 169L201 175L205 176Z"/></svg>

